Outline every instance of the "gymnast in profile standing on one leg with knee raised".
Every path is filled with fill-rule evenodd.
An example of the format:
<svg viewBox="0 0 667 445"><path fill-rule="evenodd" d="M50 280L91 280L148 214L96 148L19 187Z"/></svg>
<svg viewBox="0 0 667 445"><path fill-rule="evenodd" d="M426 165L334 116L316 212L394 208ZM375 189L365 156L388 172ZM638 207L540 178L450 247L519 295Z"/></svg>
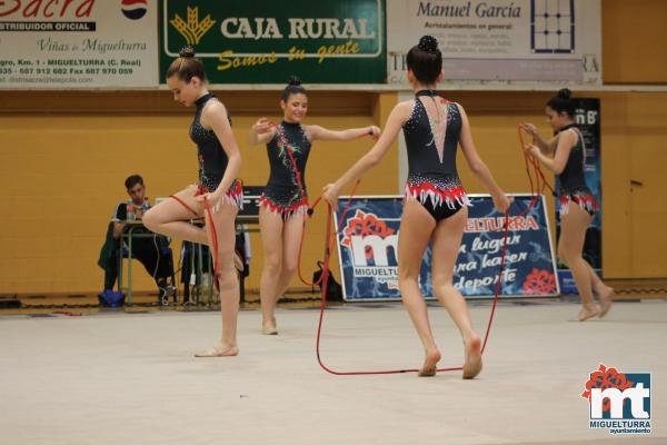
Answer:
<svg viewBox="0 0 667 445"><path fill-rule="evenodd" d="M199 185L190 186L150 209L143 224L159 234L208 244L215 258L216 287L220 291L222 336L210 350L198 357L235 356L237 347L237 316L239 283L233 265L236 237L235 219L242 190L236 179L241 168L239 147L233 138L225 106L206 88L203 63L195 58L195 50L186 47L167 71L167 85L173 100L186 107L195 106L190 138L197 144ZM211 209L210 215L208 208ZM205 228L187 222L205 217ZM212 225L211 227L211 220ZM216 249L217 247L217 249Z"/></svg>

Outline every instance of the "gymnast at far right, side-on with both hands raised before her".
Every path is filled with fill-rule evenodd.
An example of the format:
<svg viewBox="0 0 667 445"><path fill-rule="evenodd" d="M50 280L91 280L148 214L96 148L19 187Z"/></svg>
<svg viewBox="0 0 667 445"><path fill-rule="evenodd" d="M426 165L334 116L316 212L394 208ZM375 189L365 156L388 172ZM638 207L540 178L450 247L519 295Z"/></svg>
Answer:
<svg viewBox="0 0 667 445"><path fill-rule="evenodd" d="M605 316L611 307L614 296L614 289L603 283L581 256L586 230L599 206L584 176L586 142L575 125L575 105L570 99L570 90L558 91L558 95L547 102L546 113L556 136L545 140L536 126L524 123L524 129L534 138L534 144L526 146L526 150L558 176L558 256L573 274L581 298L581 309L577 319L585 322L595 316ZM571 205L573 202L575 205ZM598 296L599 306L594 300L594 293Z"/></svg>

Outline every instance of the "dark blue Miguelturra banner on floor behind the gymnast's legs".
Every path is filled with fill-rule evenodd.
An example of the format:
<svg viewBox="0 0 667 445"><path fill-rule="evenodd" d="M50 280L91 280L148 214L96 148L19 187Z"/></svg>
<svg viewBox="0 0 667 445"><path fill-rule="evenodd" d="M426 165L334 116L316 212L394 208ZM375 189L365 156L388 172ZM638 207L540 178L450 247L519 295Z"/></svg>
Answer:
<svg viewBox="0 0 667 445"><path fill-rule="evenodd" d="M470 195L468 222L455 265L454 285L465 297L492 297L502 255L505 217L491 198ZM515 196L510 215L524 211L531 197ZM355 197L340 220L346 197L335 214L346 300L400 299L398 237L402 197ZM544 197L525 216L510 218L500 296L558 295L558 279ZM421 293L434 298L431 249L426 251L419 276Z"/></svg>

